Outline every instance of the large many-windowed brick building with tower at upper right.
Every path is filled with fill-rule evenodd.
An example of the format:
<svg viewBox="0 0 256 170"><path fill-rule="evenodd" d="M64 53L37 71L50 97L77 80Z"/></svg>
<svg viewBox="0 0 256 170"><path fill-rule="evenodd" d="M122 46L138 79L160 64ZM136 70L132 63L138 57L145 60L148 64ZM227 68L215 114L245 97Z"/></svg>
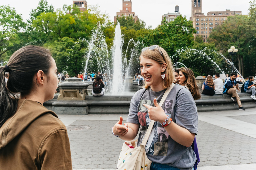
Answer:
<svg viewBox="0 0 256 170"><path fill-rule="evenodd" d="M242 11L214 11L208 12L207 15L202 13L202 0L192 0L192 15L190 20L193 21L193 27L196 29L194 36L202 36L203 42L207 42L212 29L223 24L228 16L241 15Z"/></svg>

